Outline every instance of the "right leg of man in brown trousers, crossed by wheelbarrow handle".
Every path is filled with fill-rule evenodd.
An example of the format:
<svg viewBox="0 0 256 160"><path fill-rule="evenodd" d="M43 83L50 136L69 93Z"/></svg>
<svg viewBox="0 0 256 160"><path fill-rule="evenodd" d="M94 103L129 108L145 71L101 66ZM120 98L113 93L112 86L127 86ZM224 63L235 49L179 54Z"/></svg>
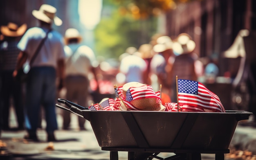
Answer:
<svg viewBox="0 0 256 160"><path fill-rule="evenodd" d="M77 104L83 107L87 107L87 98L88 98L88 87L89 81L86 77L80 77L79 83L80 87L77 94ZM85 118L78 116L79 128L80 130L85 130Z"/></svg>

